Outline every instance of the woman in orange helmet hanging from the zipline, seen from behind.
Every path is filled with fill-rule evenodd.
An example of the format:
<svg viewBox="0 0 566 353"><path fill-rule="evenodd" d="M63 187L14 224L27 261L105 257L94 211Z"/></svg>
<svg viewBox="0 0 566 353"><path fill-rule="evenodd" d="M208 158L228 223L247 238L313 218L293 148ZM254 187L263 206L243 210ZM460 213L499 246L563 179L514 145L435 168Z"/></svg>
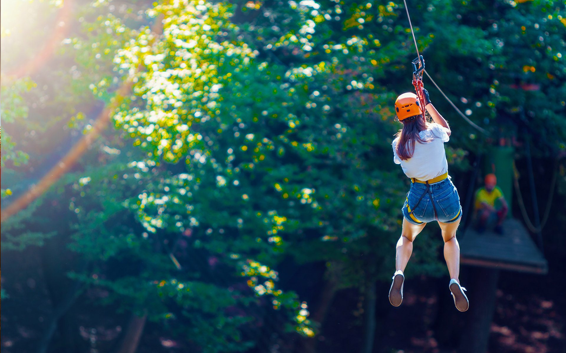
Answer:
<svg viewBox="0 0 566 353"><path fill-rule="evenodd" d="M421 61L420 71L423 69L424 61ZM419 77L416 67L415 74ZM458 279L460 247L456 239L462 207L458 191L448 175L444 151L444 143L449 141L452 132L447 121L431 104L428 91L422 88L422 83L415 85L415 89L420 93L423 103L420 102L421 97L410 92L401 94L395 101L397 119L403 128L393 140L393 160L401 164L403 172L411 179L411 186L402 209L404 219L396 246L396 272L389 290L389 302L396 307L401 305L404 271L413 252L413 241L428 222L436 220L442 231L444 258L451 277L448 286L456 308L466 311L469 302L464 294L466 289L460 286ZM429 112L434 123L426 121L425 110L421 107Z"/></svg>

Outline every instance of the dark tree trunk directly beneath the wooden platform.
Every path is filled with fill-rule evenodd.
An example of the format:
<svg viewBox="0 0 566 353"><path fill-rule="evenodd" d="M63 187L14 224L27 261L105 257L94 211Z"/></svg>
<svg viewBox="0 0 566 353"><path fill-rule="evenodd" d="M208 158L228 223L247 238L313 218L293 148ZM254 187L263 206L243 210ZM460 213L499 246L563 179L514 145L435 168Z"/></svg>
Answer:
<svg viewBox="0 0 566 353"><path fill-rule="evenodd" d="M470 283L470 309L465 313L468 322L458 353L485 353L494 316L499 270L474 268L470 278L474 280Z"/></svg>

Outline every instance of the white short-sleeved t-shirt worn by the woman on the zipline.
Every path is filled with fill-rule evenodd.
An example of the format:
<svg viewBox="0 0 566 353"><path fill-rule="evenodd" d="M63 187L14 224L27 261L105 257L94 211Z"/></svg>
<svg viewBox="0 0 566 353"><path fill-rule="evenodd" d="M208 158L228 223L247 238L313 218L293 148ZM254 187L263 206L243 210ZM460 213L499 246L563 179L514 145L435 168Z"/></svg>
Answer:
<svg viewBox="0 0 566 353"><path fill-rule="evenodd" d="M436 178L448 172L448 162L446 161L446 152L444 151L444 142L448 142L448 129L432 123L428 125L428 129L419 132L423 139L434 138L427 143L415 141L415 152L412 158L401 160L397 155L395 147L399 138L393 140L393 162L401 164L403 172L409 178L417 178L426 181Z"/></svg>

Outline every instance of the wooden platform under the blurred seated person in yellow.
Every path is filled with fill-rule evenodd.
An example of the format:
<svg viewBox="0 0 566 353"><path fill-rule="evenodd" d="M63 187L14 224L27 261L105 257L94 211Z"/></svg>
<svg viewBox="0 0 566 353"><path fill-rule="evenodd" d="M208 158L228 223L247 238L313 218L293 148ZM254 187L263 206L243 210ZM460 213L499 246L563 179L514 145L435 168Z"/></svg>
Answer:
<svg viewBox="0 0 566 353"><path fill-rule="evenodd" d="M509 271L546 274L548 263L525 227L516 219L503 223L503 235L472 227L458 236L460 263Z"/></svg>

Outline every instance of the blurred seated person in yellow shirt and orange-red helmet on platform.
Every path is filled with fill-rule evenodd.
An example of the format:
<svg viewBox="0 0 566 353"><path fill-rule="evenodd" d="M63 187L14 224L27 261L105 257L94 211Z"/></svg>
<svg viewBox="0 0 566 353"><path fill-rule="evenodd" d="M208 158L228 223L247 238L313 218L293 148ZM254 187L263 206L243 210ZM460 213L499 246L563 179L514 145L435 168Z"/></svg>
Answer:
<svg viewBox="0 0 566 353"><path fill-rule="evenodd" d="M505 201L501 189L496 186L497 178L495 177L495 174L486 175L484 182L486 186L484 188L480 188L475 193L475 213L478 215L478 232L481 233L486 230L487 223L491 219L496 219L497 223L494 231L498 234L503 234L501 224L509 210L507 201ZM499 210L495 208L496 201L499 201L501 204Z"/></svg>

